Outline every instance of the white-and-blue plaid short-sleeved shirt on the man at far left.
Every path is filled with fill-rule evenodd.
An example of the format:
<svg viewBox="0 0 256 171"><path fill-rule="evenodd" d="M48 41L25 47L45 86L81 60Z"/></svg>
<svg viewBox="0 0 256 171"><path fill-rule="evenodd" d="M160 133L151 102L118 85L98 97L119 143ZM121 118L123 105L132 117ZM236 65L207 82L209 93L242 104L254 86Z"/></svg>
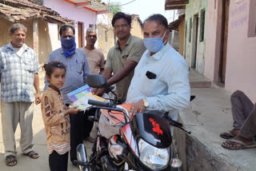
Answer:
<svg viewBox="0 0 256 171"><path fill-rule="evenodd" d="M5 102L34 101L34 74L38 58L24 43L17 50L11 43L0 48L1 100Z"/></svg>

